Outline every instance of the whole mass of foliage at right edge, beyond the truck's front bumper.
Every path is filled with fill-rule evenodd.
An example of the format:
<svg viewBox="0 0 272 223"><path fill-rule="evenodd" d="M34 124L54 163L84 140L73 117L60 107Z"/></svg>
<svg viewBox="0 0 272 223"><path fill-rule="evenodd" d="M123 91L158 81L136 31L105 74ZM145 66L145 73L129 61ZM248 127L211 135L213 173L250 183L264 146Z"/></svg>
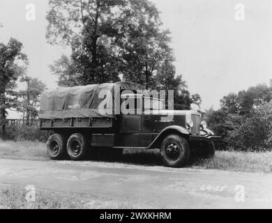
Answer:
<svg viewBox="0 0 272 223"><path fill-rule="evenodd" d="M221 109L206 113L209 127L222 135L221 149L266 151L272 149L272 85L258 84L221 100Z"/></svg>

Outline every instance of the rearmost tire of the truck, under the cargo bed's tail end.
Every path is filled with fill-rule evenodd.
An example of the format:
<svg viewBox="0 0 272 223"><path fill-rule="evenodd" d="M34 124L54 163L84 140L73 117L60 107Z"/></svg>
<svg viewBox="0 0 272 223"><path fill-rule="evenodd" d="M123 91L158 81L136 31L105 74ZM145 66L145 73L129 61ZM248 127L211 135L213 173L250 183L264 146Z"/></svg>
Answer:
<svg viewBox="0 0 272 223"><path fill-rule="evenodd" d="M47 140L47 153L52 160L61 160L66 156L67 138L61 134L52 134Z"/></svg>

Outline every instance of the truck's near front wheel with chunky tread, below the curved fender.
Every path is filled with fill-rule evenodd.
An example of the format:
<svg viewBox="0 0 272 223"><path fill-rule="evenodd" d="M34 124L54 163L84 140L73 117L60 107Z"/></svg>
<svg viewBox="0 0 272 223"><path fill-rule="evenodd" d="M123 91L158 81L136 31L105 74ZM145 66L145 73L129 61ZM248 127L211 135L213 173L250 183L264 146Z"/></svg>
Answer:
<svg viewBox="0 0 272 223"><path fill-rule="evenodd" d="M188 141L178 134L170 134L160 147L163 163L168 167L183 167L189 159Z"/></svg>

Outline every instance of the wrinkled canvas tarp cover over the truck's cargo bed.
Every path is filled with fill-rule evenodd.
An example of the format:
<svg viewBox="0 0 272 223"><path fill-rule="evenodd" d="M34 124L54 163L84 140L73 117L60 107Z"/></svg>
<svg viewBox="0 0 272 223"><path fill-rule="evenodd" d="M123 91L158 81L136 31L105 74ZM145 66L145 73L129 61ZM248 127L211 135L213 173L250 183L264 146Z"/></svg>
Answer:
<svg viewBox="0 0 272 223"><path fill-rule="evenodd" d="M144 87L131 82L119 82L45 91L40 98L39 118L112 118L119 106L116 98L123 90L141 91ZM108 94L100 98L98 95L101 91ZM105 114L99 111L98 105L102 101L103 104L112 105L112 108L107 106L107 109L112 109L112 112Z"/></svg>

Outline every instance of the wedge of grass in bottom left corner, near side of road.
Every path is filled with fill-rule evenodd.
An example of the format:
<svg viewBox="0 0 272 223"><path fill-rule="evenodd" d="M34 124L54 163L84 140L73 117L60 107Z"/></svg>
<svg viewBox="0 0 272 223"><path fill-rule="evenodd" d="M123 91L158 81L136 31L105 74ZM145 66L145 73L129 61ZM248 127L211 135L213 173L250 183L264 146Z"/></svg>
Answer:
<svg viewBox="0 0 272 223"><path fill-rule="evenodd" d="M0 187L0 209L125 209L152 208L133 201L116 201L85 194L71 194L36 189L35 201L26 200L27 191L20 186Z"/></svg>

